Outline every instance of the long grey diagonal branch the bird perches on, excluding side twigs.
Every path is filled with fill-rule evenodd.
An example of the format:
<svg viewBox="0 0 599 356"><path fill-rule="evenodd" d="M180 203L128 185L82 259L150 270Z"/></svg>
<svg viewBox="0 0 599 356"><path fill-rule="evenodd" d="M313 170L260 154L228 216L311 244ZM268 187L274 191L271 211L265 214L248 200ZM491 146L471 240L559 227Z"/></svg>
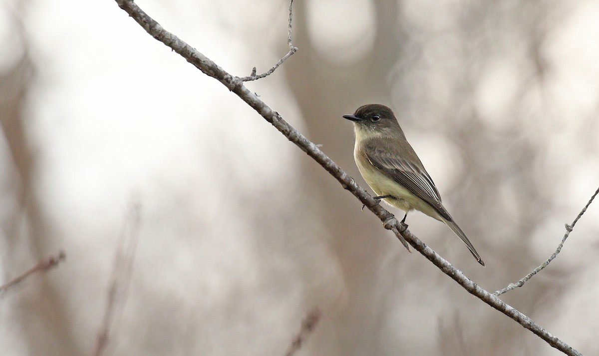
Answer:
<svg viewBox="0 0 599 356"><path fill-rule="evenodd" d="M416 251L428 258L428 260L440 268L443 273L447 274L447 276L458 282L459 285L461 285L468 292L514 319L523 327L527 328L541 339L545 340L547 343L549 343L549 345L567 355L580 355L580 352L571 348L571 346L567 345L567 343L562 342L557 337L544 330L542 327L540 327L540 325L528 318L528 316L504 303L496 295L493 295L485 289L480 288L480 286L476 285L476 283L464 276L461 271L453 267L436 252L432 251L431 248L426 246L416 236L410 233L410 231L404 231L405 227L401 225L391 213L380 206L380 204L377 204L377 201L374 200L373 197L371 197L363 188L361 188L361 186L357 185L353 178L341 170L341 168L328 156L326 156L325 153L323 153L316 146L316 144L305 138L304 135L300 134L295 128L293 128L293 126L289 125L288 122L283 120L279 113L268 107L268 105L261 101L261 99L259 99L255 93L248 90L240 78L231 76L231 74L220 68L216 63L208 59L202 53L198 52L193 47L180 40L177 36L166 31L158 22L141 10L141 8L138 7L134 1L115 1L120 8L125 10L129 16L133 17L133 19L139 23L140 26L146 30L146 32L152 35L152 37L173 49L174 52L179 53L187 60L187 62L190 62L196 68L201 70L202 73L213 77L226 86L226 88L237 94L243 101L250 105L250 107L264 117L265 120L270 122L277 130L285 135L289 141L292 141L301 150L307 153L308 156L313 158L314 161L325 168L326 171L328 171L333 177L335 177L335 179L338 180L344 189L355 195L355 197L358 198L362 204L365 204L368 209L370 209L371 212L373 212L374 215L376 215L383 222L383 226L385 228L392 230L398 239L401 239L401 237L406 239L407 242L409 242L410 245L416 249ZM400 233L400 231L403 232Z"/></svg>

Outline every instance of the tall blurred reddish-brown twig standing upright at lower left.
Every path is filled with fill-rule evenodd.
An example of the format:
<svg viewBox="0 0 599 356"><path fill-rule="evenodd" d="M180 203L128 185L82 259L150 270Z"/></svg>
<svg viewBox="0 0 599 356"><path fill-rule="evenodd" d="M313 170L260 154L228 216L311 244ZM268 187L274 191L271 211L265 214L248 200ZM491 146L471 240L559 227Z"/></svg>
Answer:
<svg viewBox="0 0 599 356"><path fill-rule="evenodd" d="M123 223L123 230L114 258L113 271L110 274L110 287L108 288L106 309L104 310L104 318L99 329L96 348L93 352L95 356L104 354L110 340L110 327L113 325L113 320L116 317L117 307L122 308L125 304L126 293L131 281L135 250L137 249L137 242L140 237L140 221L140 203L134 198L134 202L129 207L128 216Z"/></svg>

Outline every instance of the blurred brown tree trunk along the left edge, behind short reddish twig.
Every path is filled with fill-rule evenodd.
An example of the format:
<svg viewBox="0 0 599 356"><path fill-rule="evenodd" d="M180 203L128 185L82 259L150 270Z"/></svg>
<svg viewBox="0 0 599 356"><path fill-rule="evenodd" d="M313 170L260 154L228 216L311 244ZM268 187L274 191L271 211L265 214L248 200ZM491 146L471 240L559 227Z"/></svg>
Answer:
<svg viewBox="0 0 599 356"><path fill-rule="evenodd" d="M29 137L28 93L35 80L35 69L26 35L19 31L10 38L20 44L6 47L21 47L23 54L0 74L0 118L8 149L2 204L10 207L2 212L4 277L14 277L56 252L53 224L38 198L35 140ZM5 320L15 322L11 328L22 331L14 336L23 337L23 354L80 354L71 338L72 319L63 300L65 294L44 273L32 280L35 282L25 283L2 300L11 303L11 318Z"/></svg>

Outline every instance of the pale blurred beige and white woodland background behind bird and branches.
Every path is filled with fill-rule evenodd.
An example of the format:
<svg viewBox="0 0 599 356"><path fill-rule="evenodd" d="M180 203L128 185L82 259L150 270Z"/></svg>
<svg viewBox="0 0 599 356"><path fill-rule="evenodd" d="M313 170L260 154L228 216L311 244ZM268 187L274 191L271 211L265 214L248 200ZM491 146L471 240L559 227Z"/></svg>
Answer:
<svg viewBox="0 0 599 356"><path fill-rule="evenodd" d="M285 55L288 2L140 0L229 73ZM1 355L92 355L131 201L131 285L108 355L557 355L409 254L216 80L113 0L0 2ZM599 2L296 0L299 52L247 83L366 188L362 104L391 106L485 260L420 213L410 230L489 291L556 248L599 185ZM599 354L599 202L503 299ZM398 215L401 212L392 210Z"/></svg>

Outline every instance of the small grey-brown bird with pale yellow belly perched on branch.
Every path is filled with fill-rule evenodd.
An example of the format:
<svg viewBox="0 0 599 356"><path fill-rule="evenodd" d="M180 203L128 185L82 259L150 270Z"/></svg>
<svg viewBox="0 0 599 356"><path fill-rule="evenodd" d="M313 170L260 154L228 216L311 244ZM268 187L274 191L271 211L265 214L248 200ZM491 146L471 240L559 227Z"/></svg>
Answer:
<svg viewBox="0 0 599 356"><path fill-rule="evenodd" d="M464 231L441 203L435 183L408 143L391 108L367 104L343 117L353 122L356 134L353 156L360 174L376 194L374 198L403 210L406 214L402 224L410 210L419 210L444 222L465 243L476 261L485 266Z"/></svg>

